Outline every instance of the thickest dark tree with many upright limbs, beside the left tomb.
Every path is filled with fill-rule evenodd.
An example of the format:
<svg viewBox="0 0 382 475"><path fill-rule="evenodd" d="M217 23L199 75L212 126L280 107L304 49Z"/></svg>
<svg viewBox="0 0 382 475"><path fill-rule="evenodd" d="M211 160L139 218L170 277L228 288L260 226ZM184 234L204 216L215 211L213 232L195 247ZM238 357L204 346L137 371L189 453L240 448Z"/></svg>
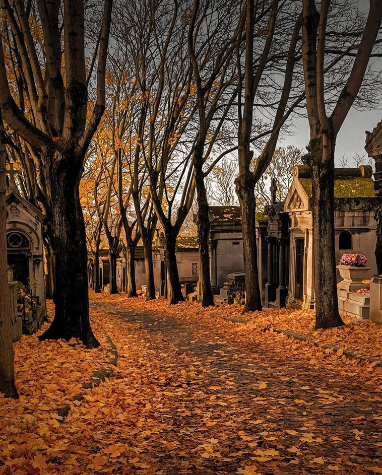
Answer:
<svg viewBox="0 0 382 475"><path fill-rule="evenodd" d="M33 123L11 95L1 40L0 107L8 125L41 154L45 183L50 188L52 202L56 306L54 320L41 338L69 340L78 337L87 347L95 347L99 343L89 322L87 248L79 181L86 151L105 110L112 0L104 2L97 93L89 120L84 2L64 0L61 13L57 3L38 2L44 45L41 54L46 58L44 73L45 79L49 80L46 83L39 63L40 51L33 41L24 4L15 4L18 22L8 8L8 2L3 2L2 6L21 51L24 88L31 103ZM60 15L62 21L59 22ZM65 55L65 86L61 76L62 55Z"/></svg>

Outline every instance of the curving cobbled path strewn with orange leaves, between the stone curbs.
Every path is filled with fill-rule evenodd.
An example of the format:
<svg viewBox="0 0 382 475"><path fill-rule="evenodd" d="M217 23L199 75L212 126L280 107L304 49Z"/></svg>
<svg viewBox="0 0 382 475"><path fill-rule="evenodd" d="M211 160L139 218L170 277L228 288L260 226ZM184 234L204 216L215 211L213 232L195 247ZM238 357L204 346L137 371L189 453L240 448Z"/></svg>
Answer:
<svg viewBox="0 0 382 475"><path fill-rule="evenodd" d="M202 310L91 309L119 353L104 390L125 426L105 417L103 437L132 452L116 473L382 473L381 381L355 363Z"/></svg>

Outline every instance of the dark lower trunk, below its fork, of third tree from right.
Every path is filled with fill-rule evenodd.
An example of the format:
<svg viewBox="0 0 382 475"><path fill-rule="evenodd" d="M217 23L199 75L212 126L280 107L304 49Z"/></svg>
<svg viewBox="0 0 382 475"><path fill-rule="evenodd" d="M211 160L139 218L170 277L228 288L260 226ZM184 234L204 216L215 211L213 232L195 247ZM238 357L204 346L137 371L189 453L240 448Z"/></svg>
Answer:
<svg viewBox="0 0 382 475"><path fill-rule="evenodd" d="M199 280L202 286L202 306L208 307L210 305L215 305L211 288L210 253L208 250L210 238L210 217L204 176L202 170L198 169L196 173L196 188L198 202L198 241L201 263Z"/></svg>

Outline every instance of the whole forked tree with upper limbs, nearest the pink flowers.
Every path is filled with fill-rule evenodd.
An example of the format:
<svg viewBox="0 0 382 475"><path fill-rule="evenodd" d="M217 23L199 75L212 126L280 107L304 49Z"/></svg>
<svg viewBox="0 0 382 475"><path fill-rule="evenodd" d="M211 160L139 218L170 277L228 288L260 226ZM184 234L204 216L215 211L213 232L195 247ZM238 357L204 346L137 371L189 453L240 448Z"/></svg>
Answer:
<svg viewBox="0 0 382 475"><path fill-rule="evenodd" d="M313 202L313 257L316 328L342 325L338 312L334 245L334 149L341 126L361 87L382 18L382 1L371 0L362 38L348 80L330 116L326 110L325 52L330 2L320 13L313 0L302 1L302 62L310 126ZM333 107L334 98L331 98Z"/></svg>

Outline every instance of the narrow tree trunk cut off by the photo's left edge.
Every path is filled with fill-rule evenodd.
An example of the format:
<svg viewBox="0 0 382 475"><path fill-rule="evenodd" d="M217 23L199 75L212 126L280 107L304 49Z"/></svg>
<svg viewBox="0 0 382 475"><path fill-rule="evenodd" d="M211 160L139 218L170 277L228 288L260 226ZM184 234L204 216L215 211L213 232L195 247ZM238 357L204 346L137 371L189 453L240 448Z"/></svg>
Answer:
<svg viewBox="0 0 382 475"><path fill-rule="evenodd" d="M5 397L18 398L15 386L13 345L11 330L11 306L8 287L8 266L6 246L6 150L0 130L0 392Z"/></svg>

